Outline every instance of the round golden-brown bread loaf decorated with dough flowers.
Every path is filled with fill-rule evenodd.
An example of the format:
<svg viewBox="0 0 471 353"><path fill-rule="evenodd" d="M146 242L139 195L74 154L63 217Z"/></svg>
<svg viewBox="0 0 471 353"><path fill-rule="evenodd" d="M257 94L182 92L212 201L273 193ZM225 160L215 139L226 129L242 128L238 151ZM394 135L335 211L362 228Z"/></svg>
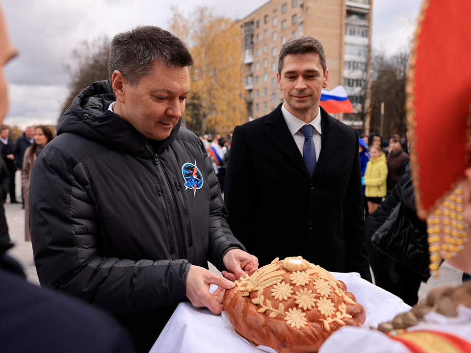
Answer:
<svg viewBox="0 0 471 353"><path fill-rule="evenodd" d="M276 258L235 284L223 303L231 324L279 353L317 352L332 332L366 319L345 283L301 256Z"/></svg>

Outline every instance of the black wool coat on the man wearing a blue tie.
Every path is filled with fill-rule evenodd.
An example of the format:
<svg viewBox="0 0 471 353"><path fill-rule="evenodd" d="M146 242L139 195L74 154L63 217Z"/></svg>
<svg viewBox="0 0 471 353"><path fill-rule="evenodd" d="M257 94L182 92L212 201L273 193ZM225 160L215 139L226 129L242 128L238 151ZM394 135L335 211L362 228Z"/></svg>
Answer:
<svg viewBox="0 0 471 353"><path fill-rule="evenodd" d="M260 266L301 255L371 281L357 133L320 108L322 148L310 176L281 107L234 129L225 189L234 235Z"/></svg>

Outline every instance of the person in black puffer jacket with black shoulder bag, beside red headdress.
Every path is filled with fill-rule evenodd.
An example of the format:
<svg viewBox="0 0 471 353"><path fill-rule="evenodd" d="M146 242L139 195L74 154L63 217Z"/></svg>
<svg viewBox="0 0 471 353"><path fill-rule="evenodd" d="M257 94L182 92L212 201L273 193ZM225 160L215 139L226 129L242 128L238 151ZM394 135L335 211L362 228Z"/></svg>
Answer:
<svg viewBox="0 0 471 353"><path fill-rule="evenodd" d="M403 210L395 210L400 217L404 218L403 220L397 220L394 217L396 207L403 207ZM401 221L402 223L396 223ZM399 229L393 228L398 224L401 224ZM386 237L390 239L387 240ZM409 164L391 194L376 211L366 218L366 239L369 263L376 285L395 294L404 303L416 304L420 282L427 281L429 277L429 253L427 226L425 222L419 220L416 214L414 185ZM394 248L386 245L388 241L394 245ZM378 249L378 245L383 249ZM404 253L402 250L399 253L397 249L407 248L409 248L408 251L414 252L414 256L409 256L406 260L408 263L404 263L405 261L401 263L398 260L403 258Z"/></svg>

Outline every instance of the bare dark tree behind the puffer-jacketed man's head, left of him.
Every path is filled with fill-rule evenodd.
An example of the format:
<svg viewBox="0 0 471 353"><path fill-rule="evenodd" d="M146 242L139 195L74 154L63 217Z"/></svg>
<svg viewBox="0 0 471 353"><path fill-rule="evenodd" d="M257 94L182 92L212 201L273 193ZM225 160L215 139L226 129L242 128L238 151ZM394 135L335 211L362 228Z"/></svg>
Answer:
<svg viewBox="0 0 471 353"><path fill-rule="evenodd" d="M66 65L70 75L69 96L62 105L59 119L84 88L108 78L109 45L109 38L105 36L91 42L85 40L72 51L72 63Z"/></svg>

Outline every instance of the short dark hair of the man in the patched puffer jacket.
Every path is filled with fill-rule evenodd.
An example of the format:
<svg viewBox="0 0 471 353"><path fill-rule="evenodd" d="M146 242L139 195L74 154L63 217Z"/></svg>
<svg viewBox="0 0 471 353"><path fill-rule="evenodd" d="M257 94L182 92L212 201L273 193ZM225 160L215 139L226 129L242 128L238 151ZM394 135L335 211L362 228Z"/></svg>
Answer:
<svg viewBox="0 0 471 353"><path fill-rule="evenodd" d="M176 67L190 67L194 63L185 44L160 27L138 26L115 35L109 49L109 85L115 70L131 85L137 84L142 76L151 72L156 60Z"/></svg>

